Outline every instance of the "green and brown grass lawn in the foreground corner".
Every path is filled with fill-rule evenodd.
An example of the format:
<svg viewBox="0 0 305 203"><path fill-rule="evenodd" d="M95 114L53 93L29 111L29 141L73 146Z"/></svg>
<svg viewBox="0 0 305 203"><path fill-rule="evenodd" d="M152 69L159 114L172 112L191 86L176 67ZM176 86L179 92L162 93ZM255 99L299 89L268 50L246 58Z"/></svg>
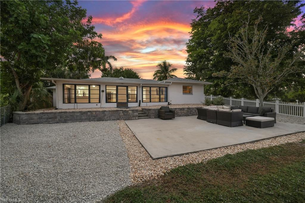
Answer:
<svg viewBox="0 0 305 203"><path fill-rule="evenodd" d="M181 166L106 202L305 202L305 141Z"/></svg>

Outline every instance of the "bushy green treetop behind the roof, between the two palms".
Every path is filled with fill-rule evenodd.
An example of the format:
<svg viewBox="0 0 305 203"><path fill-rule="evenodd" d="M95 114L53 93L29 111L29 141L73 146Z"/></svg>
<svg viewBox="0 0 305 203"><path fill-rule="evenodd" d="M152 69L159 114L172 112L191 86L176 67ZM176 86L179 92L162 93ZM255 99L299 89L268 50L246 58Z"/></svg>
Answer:
<svg viewBox="0 0 305 203"><path fill-rule="evenodd" d="M140 79L139 74L131 68L115 67L114 69L106 69L102 72L102 77L124 77Z"/></svg>

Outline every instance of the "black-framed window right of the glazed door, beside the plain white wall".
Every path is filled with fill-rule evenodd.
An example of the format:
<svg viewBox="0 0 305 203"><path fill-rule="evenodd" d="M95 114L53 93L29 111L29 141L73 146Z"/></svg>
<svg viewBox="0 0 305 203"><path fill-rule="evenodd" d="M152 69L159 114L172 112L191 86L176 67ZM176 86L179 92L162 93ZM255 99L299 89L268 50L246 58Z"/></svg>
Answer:
<svg viewBox="0 0 305 203"><path fill-rule="evenodd" d="M142 102L167 102L167 87L142 87Z"/></svg>

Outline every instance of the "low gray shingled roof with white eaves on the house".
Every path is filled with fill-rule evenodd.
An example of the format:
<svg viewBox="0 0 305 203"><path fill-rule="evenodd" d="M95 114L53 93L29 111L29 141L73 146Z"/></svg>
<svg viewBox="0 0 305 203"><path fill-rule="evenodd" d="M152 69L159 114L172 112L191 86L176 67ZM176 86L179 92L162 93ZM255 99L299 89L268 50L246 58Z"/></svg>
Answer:
<svg viewBox="0 0 305 203"><path fill-rule="evenodd" d="M204 82L199 80L191 80L185 79L180 77L174 77L163 81L158 80L149 80L149 79L135 79L135 78L123 78L120 79L118 77L98 77L98 78L88 78L88 79L64 79L64 78L47 78L41 77L41 80L70 80L70 81L95 81L95 82L109 82L109 83L138 83L138 84L170 84L172 82L179 82L179 83L197 83L197 84L212 84L210 82Z"/></svg>

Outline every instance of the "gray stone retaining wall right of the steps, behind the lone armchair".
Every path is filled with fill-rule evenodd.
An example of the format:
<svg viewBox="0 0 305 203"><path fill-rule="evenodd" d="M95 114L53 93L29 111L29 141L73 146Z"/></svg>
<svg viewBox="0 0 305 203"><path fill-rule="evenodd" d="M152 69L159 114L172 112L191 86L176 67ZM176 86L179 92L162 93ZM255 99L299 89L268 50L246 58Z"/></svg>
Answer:
<svg viewBox="0 0 305 203"><path fill-rule="evenodd" d="M175 110L175 117L180 116L197 116L197 108L201 107L185 107L185 108L170 108ZM143 112L147 113L149 118L158 118L159 109L142 108Z"/></svg>

